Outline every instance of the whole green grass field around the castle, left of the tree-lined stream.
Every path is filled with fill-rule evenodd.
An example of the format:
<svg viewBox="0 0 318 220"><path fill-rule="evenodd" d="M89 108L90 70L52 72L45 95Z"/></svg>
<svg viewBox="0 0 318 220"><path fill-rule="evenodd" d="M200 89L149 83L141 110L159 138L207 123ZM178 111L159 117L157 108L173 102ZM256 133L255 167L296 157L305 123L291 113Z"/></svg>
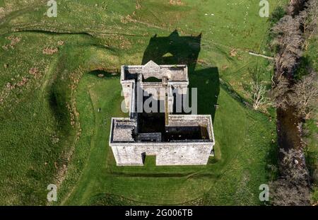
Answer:
<svg viewBox="0 0 318 220"><path fill-rule="evenodd" d="M266 51L268 20L259 1L169 2L59 1L58 17L48 18L46 1L0 1L0 204L49 204L50 183L58 185L54 204L260 204L259 185L276 175L276 127L272 110L246 105L248 70L261 66L270 81L272 64L248 52ZM273 11L285 1L270 3ZM125 115L111 73L141 64L151 37L175 29L202 33L196 64L181 59L193 45L168 49L192 67L199 113L214 118L216 156L207 166L157 167L148 158L144 167L117 167L110 118Z"/></svg>

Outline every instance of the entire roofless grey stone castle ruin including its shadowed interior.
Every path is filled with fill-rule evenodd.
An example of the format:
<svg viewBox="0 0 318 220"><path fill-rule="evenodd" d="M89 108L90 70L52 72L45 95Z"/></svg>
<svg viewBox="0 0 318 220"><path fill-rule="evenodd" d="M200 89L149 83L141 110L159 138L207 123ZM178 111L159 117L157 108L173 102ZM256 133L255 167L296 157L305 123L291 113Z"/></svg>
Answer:
<svg viewBox="0 0 318 220"><path fill-rule="evenodd" d="M146 156L155 156L157 166L208 163L215 144L211 115L185 115L175 110L177 99L187 95L187 65L150 61L122 66L121 83L129 117L112 118L110 146L117 166L143 166ZM172 93L176 88L177 95ZM158 102L161 110L140 111L140 90L149 91L148 98ZM145 102L142 98L141 103Z"/></svg>

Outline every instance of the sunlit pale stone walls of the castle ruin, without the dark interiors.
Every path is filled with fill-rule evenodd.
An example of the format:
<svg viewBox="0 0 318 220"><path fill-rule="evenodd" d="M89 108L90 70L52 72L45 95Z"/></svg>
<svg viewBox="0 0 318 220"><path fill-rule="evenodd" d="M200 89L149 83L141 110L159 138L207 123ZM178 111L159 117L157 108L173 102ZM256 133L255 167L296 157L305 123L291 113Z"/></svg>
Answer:
<svg viewBox="0 0 318 220"><path fill-rule="evenodd" d="M155 77L161 82L145 82ZM188 69L185 65L158 65L150 61L143 66L122 66L121 83L129 117L112 118L110 146L117 166L143 166L144 156L155 156L158 166L206 165L215 144L211 115L173 115L174 95L187 94ZM139 89L139 87L141 89ZM162 89L163 88L163 89ZM164 93L161 93L161 90ZM139 91L151 93L153 98L165 100L165 131L139 134L138 108ZM158 96L160 95L160 96ZM181 99L180 99L181 100ZM171 114L170 114L171 113ZM206 128L208 139L183 138L183 141L163 142L163 132L171 127L200 126ZM201 129L202 132L202 129ZM179 137L182 137L179 134ZM156 142L154 142L156 141Z"/></svg>

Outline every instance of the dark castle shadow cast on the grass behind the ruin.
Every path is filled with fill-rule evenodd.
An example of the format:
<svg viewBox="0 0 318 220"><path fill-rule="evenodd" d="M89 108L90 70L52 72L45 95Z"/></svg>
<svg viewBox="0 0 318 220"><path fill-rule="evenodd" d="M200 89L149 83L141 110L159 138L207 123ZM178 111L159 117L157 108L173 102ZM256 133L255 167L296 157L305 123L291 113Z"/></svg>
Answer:
<svg viewBox="0 0 318 220"><path fill-rule="evenodd" d="M189 88L198 88L198 114L210 114L214 121L220 93L219 74L217 67L196 70L201 51L201 37L201 34L180 36L177 30L167 37L155 35L151 37L143 53L142 64L151 60L156 64L186 64L189 72Z"/></svg>

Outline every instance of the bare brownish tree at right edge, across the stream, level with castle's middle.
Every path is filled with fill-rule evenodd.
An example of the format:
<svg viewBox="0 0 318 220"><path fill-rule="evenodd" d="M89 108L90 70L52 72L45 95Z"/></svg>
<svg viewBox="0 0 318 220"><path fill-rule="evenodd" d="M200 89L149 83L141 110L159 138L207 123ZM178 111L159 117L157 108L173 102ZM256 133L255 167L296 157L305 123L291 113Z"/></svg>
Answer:
<svg viewBox="0 0 318 220"><path fill-rule="evenodd" d="M312 72L309 76L304 76L291 88L291 91L288 99L290 104L295 106L296 113L300 117L310 119L318 106L317 75Z"/></svg>

